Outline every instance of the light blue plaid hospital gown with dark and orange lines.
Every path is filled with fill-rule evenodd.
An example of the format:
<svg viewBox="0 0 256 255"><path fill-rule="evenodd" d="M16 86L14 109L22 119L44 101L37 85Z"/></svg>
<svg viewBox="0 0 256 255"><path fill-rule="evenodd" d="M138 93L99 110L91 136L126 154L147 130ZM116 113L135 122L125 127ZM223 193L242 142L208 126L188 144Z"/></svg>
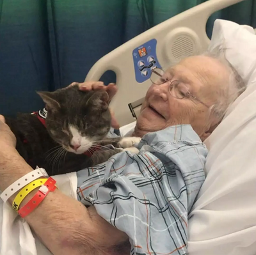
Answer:
<svg viewBox="0 0 256 255"><path fill-rule="evenodd" d="M186 254L207 149L190 125L149 133L138 149L79 171L77 197L127 233L131 254Z"/></svg>

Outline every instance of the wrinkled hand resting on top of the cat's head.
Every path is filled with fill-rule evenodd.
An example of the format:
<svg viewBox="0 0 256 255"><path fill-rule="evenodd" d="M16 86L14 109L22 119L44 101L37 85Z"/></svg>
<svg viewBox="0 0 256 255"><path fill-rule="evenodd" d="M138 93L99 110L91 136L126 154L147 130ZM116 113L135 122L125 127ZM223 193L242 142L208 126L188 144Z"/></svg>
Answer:
<svg viewBox="0 0 256 255"><path fill-rule="evenodd" d="M115 83L109 83L108 86L105 86L103 82L101 81L86 81L86 82L72 82L69 86L74 86L78 85L79 89L81 91L90 91L90 90L104 90L108 93L109 95L109 101L116 95L117 92L117 87ZM111 126L113 128L119 128L120 126L118 125L118 122L116 121L114 112L111 111Z"/></svg>

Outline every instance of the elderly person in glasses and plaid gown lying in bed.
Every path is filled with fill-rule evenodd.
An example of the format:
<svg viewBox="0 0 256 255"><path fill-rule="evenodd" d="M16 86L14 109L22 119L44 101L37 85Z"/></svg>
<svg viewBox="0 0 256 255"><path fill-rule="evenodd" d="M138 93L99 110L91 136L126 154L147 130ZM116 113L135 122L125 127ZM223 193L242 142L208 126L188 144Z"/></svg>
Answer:
<svg viewBox="0 0 256 255"><path fill-rule="evenodd" d="M53 254L186 254L188 213L204 182L202 141L243 83L225 59L210 56L154 70L151 79L133 134L143 137L140 153L118 153L79 171L77 197L86 206L55 190L25 218ZM102 89L115 94L113 86ZM4 190L33 169L15 150L3 117L0 148Z"/></svg>

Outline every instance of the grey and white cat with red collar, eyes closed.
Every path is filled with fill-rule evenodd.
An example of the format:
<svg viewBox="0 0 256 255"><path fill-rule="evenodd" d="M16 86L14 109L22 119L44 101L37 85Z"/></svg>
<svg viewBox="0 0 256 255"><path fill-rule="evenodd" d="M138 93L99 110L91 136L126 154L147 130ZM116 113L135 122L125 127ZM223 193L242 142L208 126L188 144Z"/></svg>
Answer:
<svg viewBox="0 0 256 255"><path fill-rule="evenodd" d="M105 162L123 150L138 152L134 145L139 137L106 137L111 128L106 91L79 91L75 85L37 93L44 110L6 118L17 151L33 169L65 174Z"/></svg>

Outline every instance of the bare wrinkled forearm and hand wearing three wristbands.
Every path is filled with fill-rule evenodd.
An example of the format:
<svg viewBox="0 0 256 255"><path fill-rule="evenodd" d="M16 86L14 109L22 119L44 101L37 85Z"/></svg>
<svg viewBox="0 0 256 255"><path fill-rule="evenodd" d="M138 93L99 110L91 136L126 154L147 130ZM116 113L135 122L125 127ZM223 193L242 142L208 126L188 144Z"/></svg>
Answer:
<svg viewBox="0 0 256 255"><path fill-rule="evenodd" d="M15 150L15 137L1 120L0 190L3 191L33 169ZM31 192L22 205L36 191ZM10 203L13 199L11 197ZM127 240L125 233L97 215L93 207L87 209L58 190L50 192L25 219L53 254L112 254L116 245Z"/></svg>

